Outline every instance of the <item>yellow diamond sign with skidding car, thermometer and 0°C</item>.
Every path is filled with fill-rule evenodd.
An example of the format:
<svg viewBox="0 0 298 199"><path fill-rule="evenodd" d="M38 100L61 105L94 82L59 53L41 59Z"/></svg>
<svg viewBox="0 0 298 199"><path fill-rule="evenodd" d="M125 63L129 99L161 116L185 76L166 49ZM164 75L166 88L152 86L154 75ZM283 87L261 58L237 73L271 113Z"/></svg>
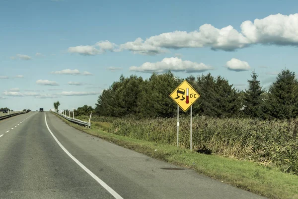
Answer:
<svg viewBox="0 0 298 199"><path fill-rule="evenodd" d="M200 98L192 86L184 80L170 95L170 97L186 112L188 108Z"/></svg>

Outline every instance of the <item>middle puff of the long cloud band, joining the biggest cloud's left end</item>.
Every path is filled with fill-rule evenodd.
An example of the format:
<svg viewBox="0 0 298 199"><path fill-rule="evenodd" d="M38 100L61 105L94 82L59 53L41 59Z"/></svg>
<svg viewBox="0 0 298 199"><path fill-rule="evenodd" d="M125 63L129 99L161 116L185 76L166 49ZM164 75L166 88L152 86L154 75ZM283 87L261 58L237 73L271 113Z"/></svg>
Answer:
<svg viewBox="0 0 298 199"><path fill-rule="evenodd" d="M132 51L134 54L142 55L156 55L168 52L167 50L161 49L159 46L154 46L146 41L143 42L142 38L137 38L135 41L129 41L125 44L121 44L120 50L123 49Z"/></svg>

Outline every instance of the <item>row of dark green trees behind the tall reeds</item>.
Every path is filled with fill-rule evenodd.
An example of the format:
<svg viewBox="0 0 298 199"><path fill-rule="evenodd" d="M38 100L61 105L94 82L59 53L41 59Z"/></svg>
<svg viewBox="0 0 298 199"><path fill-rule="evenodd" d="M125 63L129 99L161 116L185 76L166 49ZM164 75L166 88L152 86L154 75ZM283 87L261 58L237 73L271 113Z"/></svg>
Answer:
<svg viewBox="0 0 298 199"><path fill-rule="evenodd" d="M298 116L298 81L295 72L282 70L269 90L262 89L252 72L249 89L236 90L228 80L210 73L186 80L200 94L193 113L213 117L252 117L288 119ZM177 105L169 97L183 81L170 71L153 73L149 79L121 75L99 96L95 112L100 116L174 117ZM189 114L187 113L182 114Z"/></svg>

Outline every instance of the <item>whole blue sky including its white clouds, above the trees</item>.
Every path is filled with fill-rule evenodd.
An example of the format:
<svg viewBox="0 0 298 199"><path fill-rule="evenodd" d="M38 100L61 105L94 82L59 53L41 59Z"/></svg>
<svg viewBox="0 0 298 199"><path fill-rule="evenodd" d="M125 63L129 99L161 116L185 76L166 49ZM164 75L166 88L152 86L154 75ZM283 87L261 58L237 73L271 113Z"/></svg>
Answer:
<svg viewBox="0 0 298 199"><path fill-rule="evenodd" d="M0 107L94 107L121 74L168 69L237 89L255 70L268 88L285 64L297 72L297 10L294 0L4 0Z"/></svg>

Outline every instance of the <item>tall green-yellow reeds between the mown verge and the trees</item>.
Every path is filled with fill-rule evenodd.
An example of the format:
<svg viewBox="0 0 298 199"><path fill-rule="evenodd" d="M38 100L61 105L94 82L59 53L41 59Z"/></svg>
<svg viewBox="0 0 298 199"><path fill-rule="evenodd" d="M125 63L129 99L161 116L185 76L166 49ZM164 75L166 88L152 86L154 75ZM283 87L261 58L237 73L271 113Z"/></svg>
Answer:
<svg viewBox="0 0 298 199"><path fill-rule="evenodd" d="M104 122L101 125L99 123ZM176 118L135 120L93 116L92 122L110 133L155 143L177 144ZM111 125L107 125L107 123ZM298 174L296 120L219 119L193 117L193 147L212 153L279 167ZM179 145L190 147L190 117L180 118Z"/></svg>

